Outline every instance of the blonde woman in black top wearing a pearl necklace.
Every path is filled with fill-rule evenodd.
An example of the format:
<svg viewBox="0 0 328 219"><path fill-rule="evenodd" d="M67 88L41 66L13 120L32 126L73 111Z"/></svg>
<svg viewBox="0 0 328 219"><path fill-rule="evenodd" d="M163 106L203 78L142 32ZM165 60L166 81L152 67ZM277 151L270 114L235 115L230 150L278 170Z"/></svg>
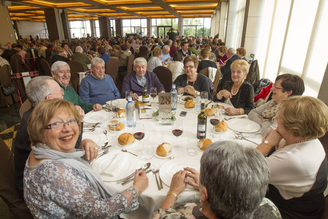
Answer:
<svg viewBox="0 0 328 219"><path fill-rule="evenodd" d="M216 94L220 102L230 102L233 107L224 110L229 115L248 114L254 109L254 89L245 79L248 74L249 64L242 59L237 59L231 64L231 79L223 85L223 90Z"/></svg>

